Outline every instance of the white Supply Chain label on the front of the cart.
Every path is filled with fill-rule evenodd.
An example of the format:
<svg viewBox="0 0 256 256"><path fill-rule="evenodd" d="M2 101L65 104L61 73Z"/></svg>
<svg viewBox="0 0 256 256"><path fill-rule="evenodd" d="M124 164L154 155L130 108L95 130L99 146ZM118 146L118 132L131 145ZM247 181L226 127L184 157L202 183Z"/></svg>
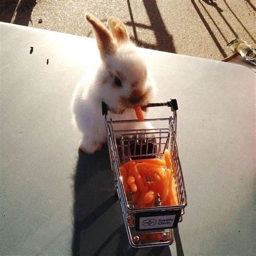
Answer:
<svg viewBox="0 0 256 256"><path fill-rule="evenodd" d="M140 217L139 229L149 230L153 228L167 228L172 227L176 215L161 215L152 217Z"/></svg>

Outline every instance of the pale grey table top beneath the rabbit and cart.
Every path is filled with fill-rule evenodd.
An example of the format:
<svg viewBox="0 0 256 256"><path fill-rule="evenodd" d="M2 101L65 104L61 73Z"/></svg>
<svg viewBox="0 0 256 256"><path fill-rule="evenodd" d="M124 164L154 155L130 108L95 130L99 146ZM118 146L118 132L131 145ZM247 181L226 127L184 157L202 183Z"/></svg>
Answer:
<svg viewBox="0 0 256 256"><path fill-rule="evenodd" d="M170 247L135 250L113 196L106 147L92 156L78 151L71 125L72 91L97 55L95 41L5 23L0 28L0 254L253 254L254 72L142 50L159 86L156 100L178 100L188 206Z"/></svg>

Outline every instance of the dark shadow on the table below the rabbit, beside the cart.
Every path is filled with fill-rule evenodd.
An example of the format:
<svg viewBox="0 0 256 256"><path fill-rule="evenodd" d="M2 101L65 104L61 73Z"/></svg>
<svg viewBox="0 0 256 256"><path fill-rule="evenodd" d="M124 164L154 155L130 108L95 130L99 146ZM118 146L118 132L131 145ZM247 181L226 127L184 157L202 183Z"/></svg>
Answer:
<svg viewBox="0 0 256 256"><path fill-rule="evenodd" d="M107 146L92 155L78 151L73 181L73 255L171 255L168 246L139 250L130 246L113 193Z"/></svg>

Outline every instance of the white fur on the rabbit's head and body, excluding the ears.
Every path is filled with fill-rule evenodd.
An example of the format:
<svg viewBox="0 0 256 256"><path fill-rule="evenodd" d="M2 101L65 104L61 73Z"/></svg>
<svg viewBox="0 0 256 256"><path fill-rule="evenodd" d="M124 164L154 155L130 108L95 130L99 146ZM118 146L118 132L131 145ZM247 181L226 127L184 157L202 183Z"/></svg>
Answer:
<svg viewBox="0 0 256 256"><path fill-rule="evenodd" d="M113 86L114 77L109 77L109 71L116 75L117 70L122 71L125 77L122 80L122 87ZM145 70L147 76L143 77ZM106 83L103 83L104 80ZM152 96L155 86L147 70L146 62L140 56L136 46L129 41L119 44L114 55L107 55L104 62L100 61L97 66L93 66L93 70L88 71L87 76L77 84L71 107L73 122L82 133L79 147L84 152L94 153L100 150L102 144L106 142L102 102L109 106L109 118L113 120L136 119L132 106L124 110L119 100L120 96L131 95L131 84L135 81L138 82L138 89L150 88ZM148 102L150 98L147 98L144 103ZM113 113L122 111L124 111L122 114ZM152 128L152 125L146 122L132 124L136 129ZM127 129L127 127L123 126L122 129Z"/></svg>

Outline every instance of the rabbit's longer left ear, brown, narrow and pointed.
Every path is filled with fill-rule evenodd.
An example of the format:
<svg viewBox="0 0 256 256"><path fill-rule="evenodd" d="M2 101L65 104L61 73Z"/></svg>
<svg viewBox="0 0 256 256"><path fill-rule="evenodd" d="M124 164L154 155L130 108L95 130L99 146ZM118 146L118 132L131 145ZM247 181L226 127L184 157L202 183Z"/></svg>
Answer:
<svg viewBox="0 0 256 256"><path fill-rule="evenodd" d="M95 30L100 55L104 58L106 54L113 54L116 51L116 43L110 31L95 16L87 14L86 19L92 24Z"/></svg>

